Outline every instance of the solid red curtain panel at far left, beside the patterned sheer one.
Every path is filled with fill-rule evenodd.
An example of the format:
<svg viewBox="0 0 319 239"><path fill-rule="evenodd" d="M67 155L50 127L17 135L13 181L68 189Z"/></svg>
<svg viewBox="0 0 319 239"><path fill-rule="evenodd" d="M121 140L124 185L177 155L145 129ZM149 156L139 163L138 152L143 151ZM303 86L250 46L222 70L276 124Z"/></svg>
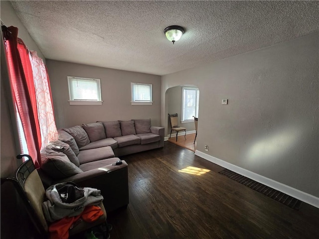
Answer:
<svg viewBox="0 0 319 239"><path fill-rule="evenodd" d="M34 86L32 88L30 84L30 82L33 82L33 75L30 61L27 63L29 58L28 56L26 57L27 49L22 41L18 43L18 28L13 26L2 27L2 33L12 98L22 122L28 154L32 157L35 167L38 168L41 164L41 140L39 137L36 102L33 98L35 94L32 94Z"/></svg>

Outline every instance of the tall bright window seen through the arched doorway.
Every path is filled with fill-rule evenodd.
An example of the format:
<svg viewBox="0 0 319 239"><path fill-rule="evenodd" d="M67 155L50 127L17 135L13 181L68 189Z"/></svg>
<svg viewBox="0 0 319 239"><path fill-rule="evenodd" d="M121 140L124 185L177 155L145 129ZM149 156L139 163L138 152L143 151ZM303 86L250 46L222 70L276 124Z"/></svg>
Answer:
<svg viewBox="0 0 319 239"><path fill-rule="evenodd" d="M182 123L194 120L193 116L198 118L198 105L198 88L182 87Z"/></svg>

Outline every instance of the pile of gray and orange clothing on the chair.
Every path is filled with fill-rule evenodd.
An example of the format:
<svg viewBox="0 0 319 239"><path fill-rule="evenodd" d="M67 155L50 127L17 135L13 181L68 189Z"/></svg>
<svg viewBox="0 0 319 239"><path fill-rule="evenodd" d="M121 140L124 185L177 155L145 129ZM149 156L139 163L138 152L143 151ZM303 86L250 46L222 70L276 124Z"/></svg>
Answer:
<svg viewBox="0 0 319 239"><path fill-rule="evenodd" d="M42 203L44 217L49 225L51 239L68 239L69 229L80 223L94 222L103 215L99 205L103 201L101 191L95 188L79 188L72 182L50 186Z"/></svg>

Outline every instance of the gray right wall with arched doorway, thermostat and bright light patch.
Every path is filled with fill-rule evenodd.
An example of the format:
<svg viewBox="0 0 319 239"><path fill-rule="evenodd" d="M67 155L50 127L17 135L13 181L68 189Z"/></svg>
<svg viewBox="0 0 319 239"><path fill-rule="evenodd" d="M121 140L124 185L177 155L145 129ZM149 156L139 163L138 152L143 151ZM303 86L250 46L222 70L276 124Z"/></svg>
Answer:
<svg viewBox="0 0 319 239"><path fill-rule="evenodd" d="M200 91L197 149L319 197L319 34L162 76ZM228 99L228 105L221 105Z"/></svg>

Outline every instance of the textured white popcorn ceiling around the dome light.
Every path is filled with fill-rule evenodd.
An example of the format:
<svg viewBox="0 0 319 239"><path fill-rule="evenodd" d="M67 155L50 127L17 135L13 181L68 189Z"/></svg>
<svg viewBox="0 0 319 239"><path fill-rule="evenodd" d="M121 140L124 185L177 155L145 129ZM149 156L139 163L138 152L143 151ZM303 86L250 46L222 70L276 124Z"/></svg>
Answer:
<svg viewBox="0 0 319 239"><path fill-rule="evenodd" d="M11 1L47 59L165 75L319 30L318 1ZM185 28L173 45L163 33Z"/></svg>

